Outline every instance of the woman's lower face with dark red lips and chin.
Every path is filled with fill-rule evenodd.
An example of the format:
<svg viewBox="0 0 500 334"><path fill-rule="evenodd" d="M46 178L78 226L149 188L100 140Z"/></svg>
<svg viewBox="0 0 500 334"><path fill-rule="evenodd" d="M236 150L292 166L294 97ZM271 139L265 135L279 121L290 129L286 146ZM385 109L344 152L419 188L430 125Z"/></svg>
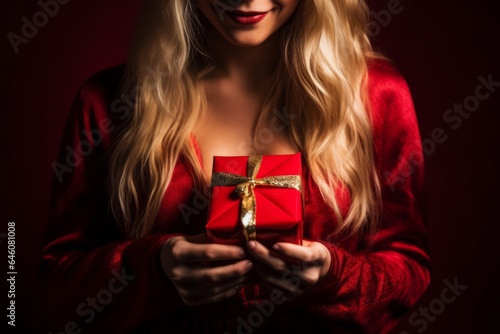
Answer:
<svg viewBox="0 0 500 334"><path fill-rule="evenodd" d="M196 0L201 13L236 46L262 44L293 15L299 0Z"/></svg>

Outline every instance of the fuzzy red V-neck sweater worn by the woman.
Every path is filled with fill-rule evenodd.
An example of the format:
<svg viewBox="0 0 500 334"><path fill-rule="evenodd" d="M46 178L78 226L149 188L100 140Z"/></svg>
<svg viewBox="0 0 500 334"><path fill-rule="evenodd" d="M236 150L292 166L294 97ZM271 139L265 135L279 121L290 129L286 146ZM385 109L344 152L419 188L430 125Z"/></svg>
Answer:
<svg viewBox="0 0 500 334"><path fill-rule="evenodd" d="M369 70L383 191L372 248L356 237L333 237L335 215L304 168L304 238L329 249L327 275L293 301L247 284L231 299L200 307L183 304L158 256L172 236L205 230L207 201L194 191L182 157L150 235L127 240L108 207L110 145L132 111L132 99L117 95L122 71L103 71L81 88L53 165L42 266L53 333L385 333L416 303L430 280L423 156L411 95L391 66L377 61ZM348 208L348 196L339 200Z"/></svg>

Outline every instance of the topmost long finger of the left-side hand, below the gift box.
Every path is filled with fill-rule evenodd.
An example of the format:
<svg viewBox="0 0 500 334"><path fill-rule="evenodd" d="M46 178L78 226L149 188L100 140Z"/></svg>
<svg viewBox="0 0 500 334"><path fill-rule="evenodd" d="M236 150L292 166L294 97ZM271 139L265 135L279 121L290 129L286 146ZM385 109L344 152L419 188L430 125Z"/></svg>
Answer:
<svg viewBox="0 0 500 334"><path fill-rule="evenodd" d="M238 260L246 256L243 248L232 245L197 244L180 240L172 247L172 255L178 262Z"/></svg>

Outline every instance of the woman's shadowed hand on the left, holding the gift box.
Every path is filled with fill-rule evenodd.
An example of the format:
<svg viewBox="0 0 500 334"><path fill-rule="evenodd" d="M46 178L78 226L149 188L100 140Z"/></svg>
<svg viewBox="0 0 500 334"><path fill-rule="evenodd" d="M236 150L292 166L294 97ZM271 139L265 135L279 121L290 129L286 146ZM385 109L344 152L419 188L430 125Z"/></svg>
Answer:
<svg viewBox="0 0 500 334"><path fill-rule="evenodd" d="M173 237L160 251L163 271L191 306L216 303L236 294L253 267L246 257L242 247L208 243L206 234ZM201 264L220 260L237 262L216 267Z"/></svg>

